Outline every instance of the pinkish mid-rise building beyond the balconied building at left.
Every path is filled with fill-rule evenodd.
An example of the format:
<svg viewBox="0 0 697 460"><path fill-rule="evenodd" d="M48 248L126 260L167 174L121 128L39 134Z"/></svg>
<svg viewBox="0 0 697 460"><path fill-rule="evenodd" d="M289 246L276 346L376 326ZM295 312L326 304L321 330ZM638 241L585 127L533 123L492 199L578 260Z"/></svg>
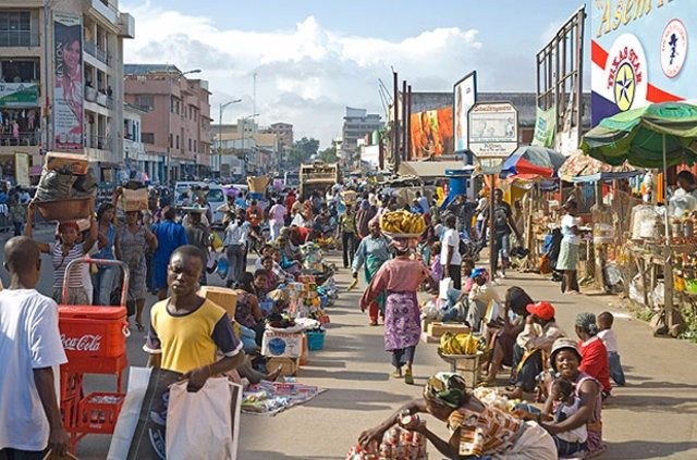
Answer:
<svg viewBox="0 0 697 460"><path fill-rule="evenodd" d="M174 65L126 64L125 100L146 113L142 140L157 157L155 182L201 177L210 170L210 91L208 82L187 78ZM169 174L168 174L169 171Z"/></svg>

